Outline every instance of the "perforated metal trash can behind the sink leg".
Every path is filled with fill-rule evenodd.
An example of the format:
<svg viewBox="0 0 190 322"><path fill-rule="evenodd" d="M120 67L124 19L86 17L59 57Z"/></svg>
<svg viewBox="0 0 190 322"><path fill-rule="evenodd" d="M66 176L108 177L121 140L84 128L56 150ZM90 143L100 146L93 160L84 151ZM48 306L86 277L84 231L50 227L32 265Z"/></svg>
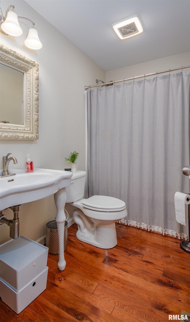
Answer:
<svg viewBox="0 0 190 322"><path fill-rule="evenodd" d="M67 219L68 220L68 217ZM64 229L64 251L67 250L67 228L68 223L65 221ZM58 237L58 227L56 220L51 220L46 224L46 247L49 248L48 253L51 255L59 254L59 237Z"/></svg>

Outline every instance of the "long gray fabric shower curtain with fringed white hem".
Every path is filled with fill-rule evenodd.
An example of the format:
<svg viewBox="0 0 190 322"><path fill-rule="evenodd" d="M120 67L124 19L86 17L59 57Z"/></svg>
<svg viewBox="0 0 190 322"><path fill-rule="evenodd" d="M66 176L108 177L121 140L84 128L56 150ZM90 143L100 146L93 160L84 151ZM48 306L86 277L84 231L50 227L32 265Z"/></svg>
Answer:
<svg viewBox="0 0 190 322"><path fill-rule="evenodd" d="M122 199L123 223L184 237L174 194L190 192L190 73L87 91L87 196Z"/></svg>

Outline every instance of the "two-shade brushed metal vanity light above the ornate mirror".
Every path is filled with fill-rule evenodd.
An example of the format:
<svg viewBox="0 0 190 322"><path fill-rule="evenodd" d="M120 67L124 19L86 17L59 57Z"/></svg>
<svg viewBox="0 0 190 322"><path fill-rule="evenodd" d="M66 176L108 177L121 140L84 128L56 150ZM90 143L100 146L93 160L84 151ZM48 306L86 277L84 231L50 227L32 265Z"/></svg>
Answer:
<svg viewBox="0 0 190 322"><path fill-rule="evenodd" d="M4 35L21 36L23 30L19 25L18 19L25 19L32 23L32 28L29 29L27 38L24 41L26 47L30 49L41 49L42 43L38 37L38 31L34 28L34 23L25 17L18 17L14 11L14 5L10 5L6 11L5 17L1 10L1 27L0 32Z"/></svg>

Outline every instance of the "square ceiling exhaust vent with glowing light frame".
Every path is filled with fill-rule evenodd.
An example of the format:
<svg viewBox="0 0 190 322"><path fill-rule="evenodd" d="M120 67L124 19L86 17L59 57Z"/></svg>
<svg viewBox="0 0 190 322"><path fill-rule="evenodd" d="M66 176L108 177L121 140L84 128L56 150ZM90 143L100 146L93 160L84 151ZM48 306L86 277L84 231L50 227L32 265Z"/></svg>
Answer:
<svg viewBox="0 0 190 322"><path fill-rule="evenodd" d="M126 39L143 32L140 18L135 15L112 25L120 39Z"/></svg>

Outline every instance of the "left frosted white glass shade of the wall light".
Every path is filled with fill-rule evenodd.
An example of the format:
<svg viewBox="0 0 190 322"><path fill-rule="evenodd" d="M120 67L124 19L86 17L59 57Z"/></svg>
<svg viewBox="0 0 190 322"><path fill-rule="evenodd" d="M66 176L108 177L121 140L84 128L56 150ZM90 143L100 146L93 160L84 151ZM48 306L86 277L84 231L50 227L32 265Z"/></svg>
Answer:
<svg viewBox="0 0 190 322"><path fill-rule="evenodd" d="M20 36L23 33L19 22L18 16L14 11L8 11L5 21L1 24L1 29L11 36Z"/></svg>

